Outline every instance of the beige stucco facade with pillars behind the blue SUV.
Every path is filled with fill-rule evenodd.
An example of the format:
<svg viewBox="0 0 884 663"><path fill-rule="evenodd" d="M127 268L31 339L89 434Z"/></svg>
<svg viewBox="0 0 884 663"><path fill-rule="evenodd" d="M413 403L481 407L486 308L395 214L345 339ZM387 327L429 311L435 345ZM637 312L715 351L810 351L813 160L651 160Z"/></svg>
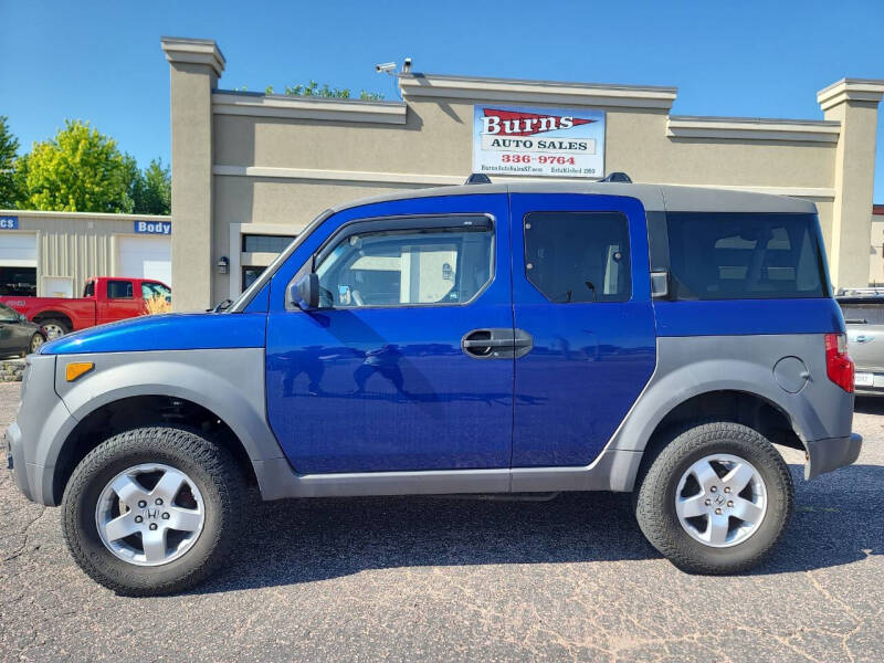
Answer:
<svg viewBox="0 0 884 663"><path fill-rule="evenodd" d="M328 207L462 183L473 166L474 107L490 103L602 112L604 171L634 181L812 200L835 285L869 283L884 81L843 78L823 88L820 119L674 115L675 87L410 72L399 74L401 101L365 102L224 91L225 61L213 41L164 38L161 45L170 66L178 309L238 295ZM514 178L522 179L493 179Z"/></svg>

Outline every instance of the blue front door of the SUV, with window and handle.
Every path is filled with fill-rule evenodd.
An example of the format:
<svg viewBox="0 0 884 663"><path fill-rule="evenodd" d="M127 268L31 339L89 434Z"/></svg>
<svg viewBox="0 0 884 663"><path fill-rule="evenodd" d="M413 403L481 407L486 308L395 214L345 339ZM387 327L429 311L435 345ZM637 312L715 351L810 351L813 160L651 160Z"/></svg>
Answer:
<svg viewBox="0 0 884 663"><path fill-rule="evenodd" d="M482 344L513 336L507 211L505 196L345 210L276 273L267 415L295 471L509 466L513 352ZM285 291L312 271L319 307L302 311Z"/></svg>

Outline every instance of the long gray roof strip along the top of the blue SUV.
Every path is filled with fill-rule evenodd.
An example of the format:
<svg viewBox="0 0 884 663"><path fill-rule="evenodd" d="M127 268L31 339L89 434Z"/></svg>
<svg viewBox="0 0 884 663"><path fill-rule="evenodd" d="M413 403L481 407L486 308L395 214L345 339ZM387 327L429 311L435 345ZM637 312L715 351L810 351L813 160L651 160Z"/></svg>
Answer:
<svg viewBox="0 0 884 663"><path fill-rule="evenodd" d="M638 198L646 211L680 212L804 212L815 213L817 206L809 200L734 191L730 189L712 189L706 187L680 187L674 185L628 185L620 182L512 182L506 185L461 185L456 187L433 187L429 189L409 189L373 198L362 198L333 208L338 212L371 202L408 200L410 198L431 198L433 196L477 196L481 193L589 193L608 196L628 196Z"/></svg>

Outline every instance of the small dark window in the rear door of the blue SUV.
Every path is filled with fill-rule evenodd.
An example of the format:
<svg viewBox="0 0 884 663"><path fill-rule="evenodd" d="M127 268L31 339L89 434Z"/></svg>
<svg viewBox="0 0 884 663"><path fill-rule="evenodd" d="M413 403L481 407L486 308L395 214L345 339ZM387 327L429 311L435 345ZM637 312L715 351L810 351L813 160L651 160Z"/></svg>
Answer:
<svg viewBox="0 0 884 663"><path fill-rule="evenodd" d="M550 302L625 302L632 293L629 222L620 212L532 212L525 275Z"/></svg>

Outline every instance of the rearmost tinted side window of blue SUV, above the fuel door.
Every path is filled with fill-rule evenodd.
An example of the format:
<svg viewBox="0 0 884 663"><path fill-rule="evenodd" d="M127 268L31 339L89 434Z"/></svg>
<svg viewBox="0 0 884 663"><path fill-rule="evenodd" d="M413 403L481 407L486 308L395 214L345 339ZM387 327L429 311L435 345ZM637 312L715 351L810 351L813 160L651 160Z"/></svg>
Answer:
<svg viewBox="0 0 884 663"><path fill-rule="evenodd" d="M670 212L676 299L828 297L814 214Z"/></svg>

